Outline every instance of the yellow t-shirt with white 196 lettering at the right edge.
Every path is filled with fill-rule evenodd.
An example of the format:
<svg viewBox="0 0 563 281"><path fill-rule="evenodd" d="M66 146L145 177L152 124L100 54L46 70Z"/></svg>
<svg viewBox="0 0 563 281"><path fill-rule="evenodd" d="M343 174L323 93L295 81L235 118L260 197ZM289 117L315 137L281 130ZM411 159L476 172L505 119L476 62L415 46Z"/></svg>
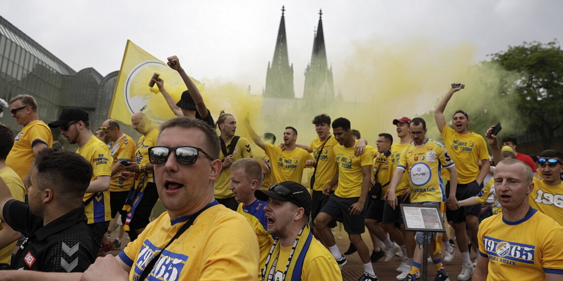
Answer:
<svg viewBox="0 0 563 281"><path fill-rule="evenodd" d="M548 185L538 178L533 179L534 190L530 193L530 206L563 225L563 182Z"/></svg>

